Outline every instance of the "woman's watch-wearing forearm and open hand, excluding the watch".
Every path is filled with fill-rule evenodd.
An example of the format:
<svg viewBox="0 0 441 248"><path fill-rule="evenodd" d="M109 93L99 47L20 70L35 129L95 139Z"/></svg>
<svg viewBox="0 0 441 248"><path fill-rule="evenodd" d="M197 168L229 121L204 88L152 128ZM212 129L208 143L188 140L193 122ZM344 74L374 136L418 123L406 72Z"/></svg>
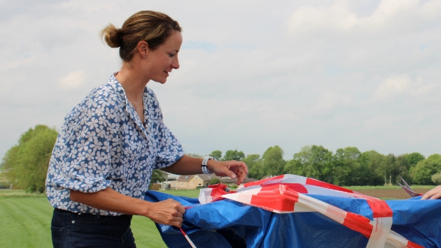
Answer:
<svg viewBox="0 0 441 248"><path fill-rule="evenodd" d="M203 158L193 158L191 156L184 155L173 165L166 168L161 168L161 170L177 175L201 174L202 161ZM208 160L207 168L216 176L229 176L233 179L238 178L236 182L237 185L243 183L243 180L245 180L248 175L247 165L240 161L215 161L210 159Z"/></svg>

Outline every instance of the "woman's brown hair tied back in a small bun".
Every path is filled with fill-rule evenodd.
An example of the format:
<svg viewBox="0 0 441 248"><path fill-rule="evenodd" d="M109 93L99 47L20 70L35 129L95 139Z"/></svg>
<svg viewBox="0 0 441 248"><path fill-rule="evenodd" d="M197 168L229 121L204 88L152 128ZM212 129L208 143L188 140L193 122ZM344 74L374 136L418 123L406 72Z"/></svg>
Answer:
<svg viewBox="0 0 441 248"><path fill-rule="evenodd" d="M172 31L181 32L181 30L179 23L166 14L139 11L130 16L122 28L109 24L102 29L100 36L111 48L119 48L119 57L128 63L132 60L133 54L137 53L139 41L147 41L149 49L155 50L169 38Z"/></svg>

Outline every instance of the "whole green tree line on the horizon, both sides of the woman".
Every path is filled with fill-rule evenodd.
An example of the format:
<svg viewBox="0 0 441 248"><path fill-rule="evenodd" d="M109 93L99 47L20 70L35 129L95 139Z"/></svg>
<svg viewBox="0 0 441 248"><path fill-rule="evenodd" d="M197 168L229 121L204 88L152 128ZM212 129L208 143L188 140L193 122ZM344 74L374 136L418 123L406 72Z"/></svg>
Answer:
<svg viewBox="0 0 441 248"><path fill-rule="evenodd" d="M49 159L58 131L45 125L36 125L24 132L18 144L12 146L0 163L1 185L13 184L28 192L45 190ZM188 153L189 156L201 157ZM377 151L361 152L349 146L337 149L335 153L323 146L304 146L292 159L283 158L280 146L271 146L262 155L243 151L212 151L223 161L243 161L248 165L249 178L295 174L315 178L341 186L397 184L400 177L408 183L421 185L441 184L441 155L425 158L421 153L383 155ZM161 173L154 172L153 178L161 179Z"/></svg>

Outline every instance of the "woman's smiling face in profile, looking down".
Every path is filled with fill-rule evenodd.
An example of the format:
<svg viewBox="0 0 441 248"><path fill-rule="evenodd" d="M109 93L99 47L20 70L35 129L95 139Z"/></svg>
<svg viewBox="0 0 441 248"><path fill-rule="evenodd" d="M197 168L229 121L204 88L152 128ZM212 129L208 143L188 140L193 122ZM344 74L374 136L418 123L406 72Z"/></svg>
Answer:
<svg viewBox="0 0 441 248"><path fill-rule="evenodd" d="M156 50L147 50L144 68L150 80L164 84L169 77L169 72L179 68L178 53L181 44L181 32L173 31Z"/></svg>

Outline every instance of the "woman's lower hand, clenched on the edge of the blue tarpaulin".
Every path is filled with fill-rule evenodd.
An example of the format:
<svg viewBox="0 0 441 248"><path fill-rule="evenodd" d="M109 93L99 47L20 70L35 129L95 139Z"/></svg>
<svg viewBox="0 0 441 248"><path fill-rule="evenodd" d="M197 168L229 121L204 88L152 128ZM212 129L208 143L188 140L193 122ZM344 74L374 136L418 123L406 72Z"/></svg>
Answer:
<svg viewBox="0 0 441 248"><path fill-rule="evenodd" d="M146 217L161 225L181 227L185 208L173 199L153 203L147 210Z"/></svg>

